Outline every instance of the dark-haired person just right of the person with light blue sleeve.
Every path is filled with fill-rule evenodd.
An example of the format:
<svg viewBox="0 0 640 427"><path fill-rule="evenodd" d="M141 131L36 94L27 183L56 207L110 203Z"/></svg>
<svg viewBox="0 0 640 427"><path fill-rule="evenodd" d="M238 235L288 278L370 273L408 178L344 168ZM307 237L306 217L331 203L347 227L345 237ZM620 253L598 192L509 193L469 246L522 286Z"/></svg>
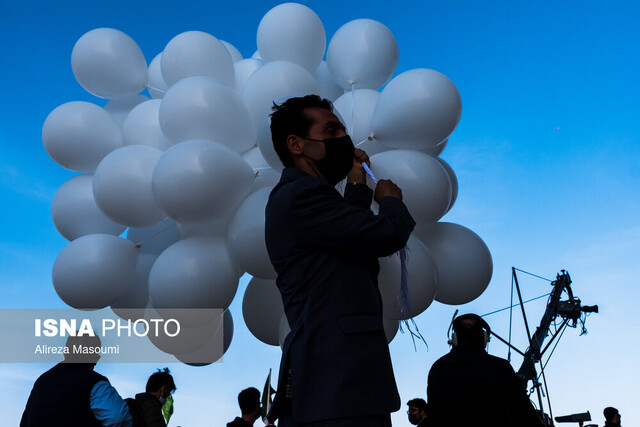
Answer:
<svg viewBox="0 0 640 427"><path fill-rule="evenodd" d="M151 374L147 380L144 393L136 394L132 405L135 412L133 427L166 427L167 423L162 414L162 406L176 389L169 368Z"/></svg>

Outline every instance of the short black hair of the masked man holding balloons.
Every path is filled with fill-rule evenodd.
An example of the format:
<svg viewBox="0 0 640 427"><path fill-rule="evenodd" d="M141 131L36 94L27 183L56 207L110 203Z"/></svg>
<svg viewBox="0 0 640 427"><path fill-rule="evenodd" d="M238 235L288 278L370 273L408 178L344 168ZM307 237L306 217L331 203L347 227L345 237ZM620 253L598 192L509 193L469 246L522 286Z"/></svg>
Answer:
<svg viewBox="0 0 640 427"><path fill-rule="evenodd" d="M289 98L282 104L273 103L271 113L271 140L282 164L286 167L293 166L293 158L287 147L289 135L307 136L313 119L304 113L305 108L324 108L333 111L333 104L318 95L307 95L298 98Z"/></svg>

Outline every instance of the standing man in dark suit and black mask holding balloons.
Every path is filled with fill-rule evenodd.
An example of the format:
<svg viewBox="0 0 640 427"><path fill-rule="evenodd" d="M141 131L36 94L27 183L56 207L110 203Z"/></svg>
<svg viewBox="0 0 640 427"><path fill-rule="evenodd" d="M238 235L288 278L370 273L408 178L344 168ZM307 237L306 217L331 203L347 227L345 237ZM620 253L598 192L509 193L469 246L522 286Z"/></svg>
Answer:
<svg viewBox="0 0 640 427"><path fill-rule="evenodd" d="M378 257L402 249L415 222L402 191L375 194L332 105L316 95L275 105L271 135L285 168L265 238L291 332L270 420L279 426L385 426L400 408L377 288ZM347 178L344 196L334 186ZM372 196L379 214L370 210Z"/></svg>

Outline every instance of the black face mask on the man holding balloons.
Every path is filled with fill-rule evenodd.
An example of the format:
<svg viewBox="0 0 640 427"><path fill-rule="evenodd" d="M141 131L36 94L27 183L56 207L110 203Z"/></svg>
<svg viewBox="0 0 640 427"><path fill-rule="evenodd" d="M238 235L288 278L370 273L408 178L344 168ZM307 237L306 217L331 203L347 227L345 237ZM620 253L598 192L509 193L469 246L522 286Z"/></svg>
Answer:
<svg viewBox="0 0 640 427"><path fill-rule="evenodd" d="M313 160L320 173L329 181L329 184L336 185L347 177L353 167L353 156L355 147L349 135L338 138L325 138L323 140L304 138L309 141L322 142L324 144L325 156L320 160Z"/></svg>

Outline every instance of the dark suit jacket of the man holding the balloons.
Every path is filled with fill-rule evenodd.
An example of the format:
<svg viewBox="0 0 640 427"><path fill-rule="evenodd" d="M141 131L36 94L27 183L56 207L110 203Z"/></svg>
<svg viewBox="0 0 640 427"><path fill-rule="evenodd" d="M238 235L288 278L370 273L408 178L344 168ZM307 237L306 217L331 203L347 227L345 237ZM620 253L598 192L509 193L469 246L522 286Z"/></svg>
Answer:
<svg viewBox="0 0 640 427"><path fill-rule="evenodd" d="M396 198L369 206L372 191L348 184L345 196L323 179L286 168L266 208L265 237L278 273L291 333L273 412L291 407L297 423L398 410L382 328L377 258L403 248L415 222Z"/></svg>

